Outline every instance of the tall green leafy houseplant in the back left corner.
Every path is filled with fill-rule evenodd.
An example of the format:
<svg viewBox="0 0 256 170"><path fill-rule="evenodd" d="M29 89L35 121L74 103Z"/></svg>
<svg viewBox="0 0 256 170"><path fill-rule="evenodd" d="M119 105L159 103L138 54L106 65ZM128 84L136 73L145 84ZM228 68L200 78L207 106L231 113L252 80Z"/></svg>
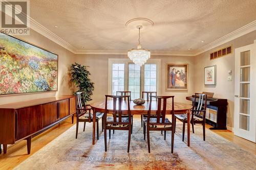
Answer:
<svg viewBox="0 0 256 170"><path fill-rule="evenodd" d="M73 82L77 86L77 91L83 91L83 99L85 102L91 101L94 83L91 82L89 76L90 72L87 70L88 66L80 65L78 63L71 64L70 66L70 74L71 74L71 82ZM77 92L75 91L75 92Z"/></svg>

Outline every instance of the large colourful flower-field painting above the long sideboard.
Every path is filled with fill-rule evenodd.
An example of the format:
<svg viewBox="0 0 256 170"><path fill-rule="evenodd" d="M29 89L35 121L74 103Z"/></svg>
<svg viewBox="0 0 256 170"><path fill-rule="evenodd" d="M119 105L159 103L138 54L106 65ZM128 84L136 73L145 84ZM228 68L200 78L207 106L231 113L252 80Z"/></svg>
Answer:
<svg viewBox="0 0 256 170"><path fill-rule="evenodd" d="M0 32L0 95L57 91L58 55Z"/></svg>

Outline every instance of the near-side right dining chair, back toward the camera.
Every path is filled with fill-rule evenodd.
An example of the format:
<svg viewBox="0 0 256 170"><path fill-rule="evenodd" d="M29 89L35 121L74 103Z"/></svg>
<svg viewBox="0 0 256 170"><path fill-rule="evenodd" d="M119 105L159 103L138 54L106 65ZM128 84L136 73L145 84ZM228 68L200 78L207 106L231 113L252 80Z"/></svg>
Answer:
<svg viewBox="0 0 256 170"><path fill-rule="evenodd" d="M157 100L157 111L156 117L151 117L151 107L152 107L152 98ZM165 117L166 114L166 106L167 106L167 99L172 99L172 122ZM162 104L163 101L163 104ZM169 103L168 103L169 104ZM162 109L161 109L162 106ZM161 117L162 115L162 117ZM164 140L166 139L166 131L172 131L172 144L171 144L171 151L174 152L174 96L150 96L150 106L147 112L147 117L143 118L144 126L143 126L143 133L145 139L145 131L147 134L147 148L148 153L150 153L150 131L164 131Z"/></svg>

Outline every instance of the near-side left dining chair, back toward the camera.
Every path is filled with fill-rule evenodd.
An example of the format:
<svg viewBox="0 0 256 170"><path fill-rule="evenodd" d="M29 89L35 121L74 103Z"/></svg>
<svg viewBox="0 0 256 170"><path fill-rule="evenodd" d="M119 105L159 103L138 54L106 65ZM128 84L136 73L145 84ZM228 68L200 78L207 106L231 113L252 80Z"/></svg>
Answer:
<svg viewBox="0 0 256 170"><path fill-rule="evenodd" d="M108 99L113 99L113 116L107 116L108 110ZM132 116L130 109L130 102L127 102L127 113L128 117L122 117L122 102L124 98L130 101L130 95L105 95L105 111L104 111L104 142L105 142L105 152L106 152L106 130L109 129L109 138L111 139L111 129L112 130L127 130L128 135L128 147L127 153L130 151L131 133L132 133Z"/></svg>

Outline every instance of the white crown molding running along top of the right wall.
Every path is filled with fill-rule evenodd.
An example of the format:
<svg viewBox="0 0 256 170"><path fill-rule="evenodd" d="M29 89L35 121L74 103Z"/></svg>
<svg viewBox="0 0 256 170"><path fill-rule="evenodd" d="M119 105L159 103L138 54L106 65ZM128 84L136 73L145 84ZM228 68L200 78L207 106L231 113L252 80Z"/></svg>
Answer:
<svg viewBox="0 0 256 170"><path fill-rule="evenodd" d="M204 45L203 47L201 47L199 49L199 51L197 53L194 54L194 56L197 56L197 55L199 55L201 53L204 53L204 52L206 52L208 50L211 50L212 48L220 46L220 45L222 45L222 44L224 44L226 42L234 40L234 39L236 39L238 37L241 37L241 36L243 36L245 34L248 34L248 33L252 32L252 31L255 31L255 30L256 30L256 20L248 23L247 25L245 25L245 26L243 26L243 27L241 27L241 28L239 28L239 29L237 29L237 30L235 30L235 31L233 31L233 32L231 32L231 33L229 33L229 34L227 34L227 35L225 35L225 36L215 40L215 41L212 41L211 43L209 43L207 45Z"/></svg>

